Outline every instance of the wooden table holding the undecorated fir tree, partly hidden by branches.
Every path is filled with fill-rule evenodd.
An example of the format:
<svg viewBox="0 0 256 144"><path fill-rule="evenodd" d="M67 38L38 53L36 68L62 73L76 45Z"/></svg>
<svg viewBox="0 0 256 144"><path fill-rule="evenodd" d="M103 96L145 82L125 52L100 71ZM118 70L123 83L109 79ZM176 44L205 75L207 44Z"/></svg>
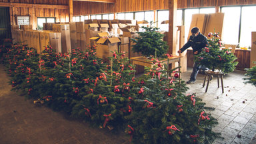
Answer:
<svg viewBox="0 0 256 144"><path fill-rule="evenodd" d="M175 63L175 62L178 62L179 63L179 71L181 71L181 57L182 56L173 56L173 57L170 57L169 59L163 59L161 60L161 63L162 64L166 64L167 65L167 69L169 69L169 63ZM142 65L144 67L153 67L153 62L152 61L149 61L147 60L146 57L131 57L130 58L133 65ZM179 78L181 78L181 75L179 75Z"/></svg>

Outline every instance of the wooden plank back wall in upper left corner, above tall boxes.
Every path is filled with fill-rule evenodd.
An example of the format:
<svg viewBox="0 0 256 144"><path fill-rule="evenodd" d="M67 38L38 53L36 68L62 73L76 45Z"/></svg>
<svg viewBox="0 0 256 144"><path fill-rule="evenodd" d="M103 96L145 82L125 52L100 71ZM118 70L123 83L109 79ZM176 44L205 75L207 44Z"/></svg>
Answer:
<svg viewBox="0 0 256 144"><path fill-rule="evenodd" d="M69 22L68 7L55 7L69 5L68 0L0 0L0 7L1 2L17 4L10 7L11 25L17 25L17 16L27 15L30 16L33 29L37 27L37 17L55 17L56 22Z"/></svg>

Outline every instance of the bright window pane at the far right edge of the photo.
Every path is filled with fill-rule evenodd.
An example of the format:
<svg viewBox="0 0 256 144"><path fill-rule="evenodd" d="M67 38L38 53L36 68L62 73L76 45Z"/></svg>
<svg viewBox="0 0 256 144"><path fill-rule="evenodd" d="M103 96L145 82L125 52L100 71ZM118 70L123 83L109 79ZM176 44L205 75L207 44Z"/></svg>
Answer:
<svg viewBox="0 0 256 144"><path fill-rule="evenodd" d="M256 6L242 7L240 46L251 47L251 31L256 31Z"/></svg>

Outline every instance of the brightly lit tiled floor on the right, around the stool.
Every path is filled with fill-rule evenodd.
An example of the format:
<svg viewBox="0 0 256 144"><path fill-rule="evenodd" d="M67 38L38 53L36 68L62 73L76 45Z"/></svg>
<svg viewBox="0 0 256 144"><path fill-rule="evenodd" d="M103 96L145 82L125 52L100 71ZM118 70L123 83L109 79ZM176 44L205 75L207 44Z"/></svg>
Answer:
<svg viewBox="0 0 256 144"><path fill-rule="evenodd" d="M183 73L183 80L188 80L192 69ZM197 76L196 83L187 85L188 93L197 93L209 107L215 107L211 114L218 119L215 131L221 132L224 140L215 143L249 143L256 133L256 87L245 85L245 71L234 71L224 76L224 93L217 87L214 77L207 93L203 86L204 75ZM220 84L221 86L221 84ZM241 135L241 138L237 137Z"/></svg>

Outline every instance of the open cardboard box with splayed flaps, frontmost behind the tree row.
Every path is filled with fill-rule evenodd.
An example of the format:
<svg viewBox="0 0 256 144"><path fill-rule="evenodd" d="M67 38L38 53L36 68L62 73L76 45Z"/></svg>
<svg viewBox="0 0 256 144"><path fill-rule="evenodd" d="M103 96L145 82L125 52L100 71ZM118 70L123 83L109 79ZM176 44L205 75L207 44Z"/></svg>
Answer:
<svg viewBox="0 0 256 144"><path fill-rule="evenodd" d="M99 43L96 49L96 56L107 60L108 57L112 57L111 51L118 51L118 43L120 39L118 37L109 37L107 33L98 33L99 37L92 37L91 40Z"/></svg>

